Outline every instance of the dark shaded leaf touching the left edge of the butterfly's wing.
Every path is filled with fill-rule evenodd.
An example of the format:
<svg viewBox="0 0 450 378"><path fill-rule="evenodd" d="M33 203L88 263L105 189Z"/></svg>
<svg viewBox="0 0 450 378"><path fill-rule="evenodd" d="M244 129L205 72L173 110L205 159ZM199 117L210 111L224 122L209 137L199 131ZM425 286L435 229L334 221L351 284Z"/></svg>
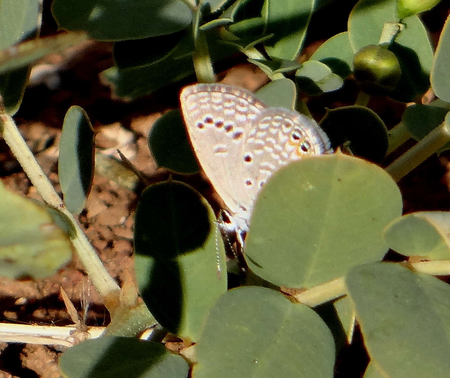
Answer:
<svg viewBox="0 0 450 378"><path fill-rule="evenodd" d="M199 170L180 110L169 111L157 119L148 135L148 148L158 167L179 173Z"/></svg>

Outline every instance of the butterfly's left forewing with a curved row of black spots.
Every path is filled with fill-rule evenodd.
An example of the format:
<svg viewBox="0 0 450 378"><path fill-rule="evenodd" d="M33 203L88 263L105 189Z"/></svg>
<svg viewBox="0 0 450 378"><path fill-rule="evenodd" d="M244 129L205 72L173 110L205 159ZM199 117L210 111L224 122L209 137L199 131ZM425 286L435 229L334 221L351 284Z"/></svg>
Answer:
<svg viewBox="0 0 450 378"><path fill-rule="evenodd" d="M266 106L246 90L223 84L197 84L183 89L181 110L193 149L217 193L231 213L243 204L239 175L244 141Z"/></svg>

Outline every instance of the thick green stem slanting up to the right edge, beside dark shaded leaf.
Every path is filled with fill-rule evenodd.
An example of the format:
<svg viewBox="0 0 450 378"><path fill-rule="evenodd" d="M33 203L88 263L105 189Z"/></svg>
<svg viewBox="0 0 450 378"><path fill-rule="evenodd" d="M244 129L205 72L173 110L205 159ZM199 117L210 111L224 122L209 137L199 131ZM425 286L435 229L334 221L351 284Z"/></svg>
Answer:
<svg viewBox="0 0 450 378"><path fill-rule="evenodd" d="M386 167L386 171L397 182L448 142L450 129L444 122Z"/></svg>

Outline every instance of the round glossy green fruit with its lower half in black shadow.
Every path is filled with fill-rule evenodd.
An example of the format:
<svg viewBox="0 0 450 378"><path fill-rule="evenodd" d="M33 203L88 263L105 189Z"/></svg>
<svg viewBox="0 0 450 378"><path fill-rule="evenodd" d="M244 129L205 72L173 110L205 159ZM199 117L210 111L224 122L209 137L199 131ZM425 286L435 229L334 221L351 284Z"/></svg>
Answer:
<svg viewBox="0 0 450 378"><path fill-rule="evenodd" d="M355 78L363 92L370 95L387 94L401 77L400 64L386 47L369 44L353 58Z"/></svg>

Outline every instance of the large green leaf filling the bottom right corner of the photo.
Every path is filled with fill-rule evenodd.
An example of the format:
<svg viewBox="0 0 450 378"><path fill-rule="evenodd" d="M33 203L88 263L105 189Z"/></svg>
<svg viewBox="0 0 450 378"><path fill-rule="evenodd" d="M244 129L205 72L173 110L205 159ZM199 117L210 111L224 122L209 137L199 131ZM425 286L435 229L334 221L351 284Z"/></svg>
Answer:
<svg viewBox="0 0 450 378"><path fill-rule="evenodd" d="M386 262L354 267L346 283L370 359L383 376L448 375L449 285Z"/></svg>

